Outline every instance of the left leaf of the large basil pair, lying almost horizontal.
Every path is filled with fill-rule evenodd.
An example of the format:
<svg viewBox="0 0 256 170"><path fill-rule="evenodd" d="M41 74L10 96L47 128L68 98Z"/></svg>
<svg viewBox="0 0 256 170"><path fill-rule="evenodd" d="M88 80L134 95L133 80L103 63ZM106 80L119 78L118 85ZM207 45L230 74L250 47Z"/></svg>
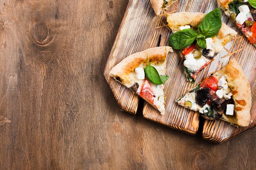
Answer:
<svg viewBox="0 0 256 170"><path fill-rule="evenodd" d="M197 36L198 33L195 30L184 29L170 35L169 45L176 50L182 50L192 44Z"/></svg>

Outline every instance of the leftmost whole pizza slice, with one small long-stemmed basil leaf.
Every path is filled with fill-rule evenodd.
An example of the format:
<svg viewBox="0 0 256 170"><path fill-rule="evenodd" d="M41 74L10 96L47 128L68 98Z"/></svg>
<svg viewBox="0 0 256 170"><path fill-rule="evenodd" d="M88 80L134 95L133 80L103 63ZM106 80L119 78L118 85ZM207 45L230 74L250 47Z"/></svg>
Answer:
<svg viewBox="0 0 256 170"><path fill-rule="evenodd" d="M162 46L132 54L113 67L110 76L164 114L164 83L168 79L165 68L169 52L173 52L171 47Z"/></svg>

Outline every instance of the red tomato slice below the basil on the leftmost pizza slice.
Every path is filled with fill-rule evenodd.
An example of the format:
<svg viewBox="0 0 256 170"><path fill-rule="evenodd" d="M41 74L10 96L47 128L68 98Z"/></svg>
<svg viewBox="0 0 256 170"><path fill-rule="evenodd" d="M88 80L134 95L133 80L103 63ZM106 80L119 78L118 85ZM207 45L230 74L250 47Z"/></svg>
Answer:
<svg viewBox="0 0 256 170"><path fill-rule="evenodd" d="M145 79L142 84L141 91L139 92L139 96L141 96L142 98L150 102L150 104L154 105L155 93L147 79Z"/></svg>

